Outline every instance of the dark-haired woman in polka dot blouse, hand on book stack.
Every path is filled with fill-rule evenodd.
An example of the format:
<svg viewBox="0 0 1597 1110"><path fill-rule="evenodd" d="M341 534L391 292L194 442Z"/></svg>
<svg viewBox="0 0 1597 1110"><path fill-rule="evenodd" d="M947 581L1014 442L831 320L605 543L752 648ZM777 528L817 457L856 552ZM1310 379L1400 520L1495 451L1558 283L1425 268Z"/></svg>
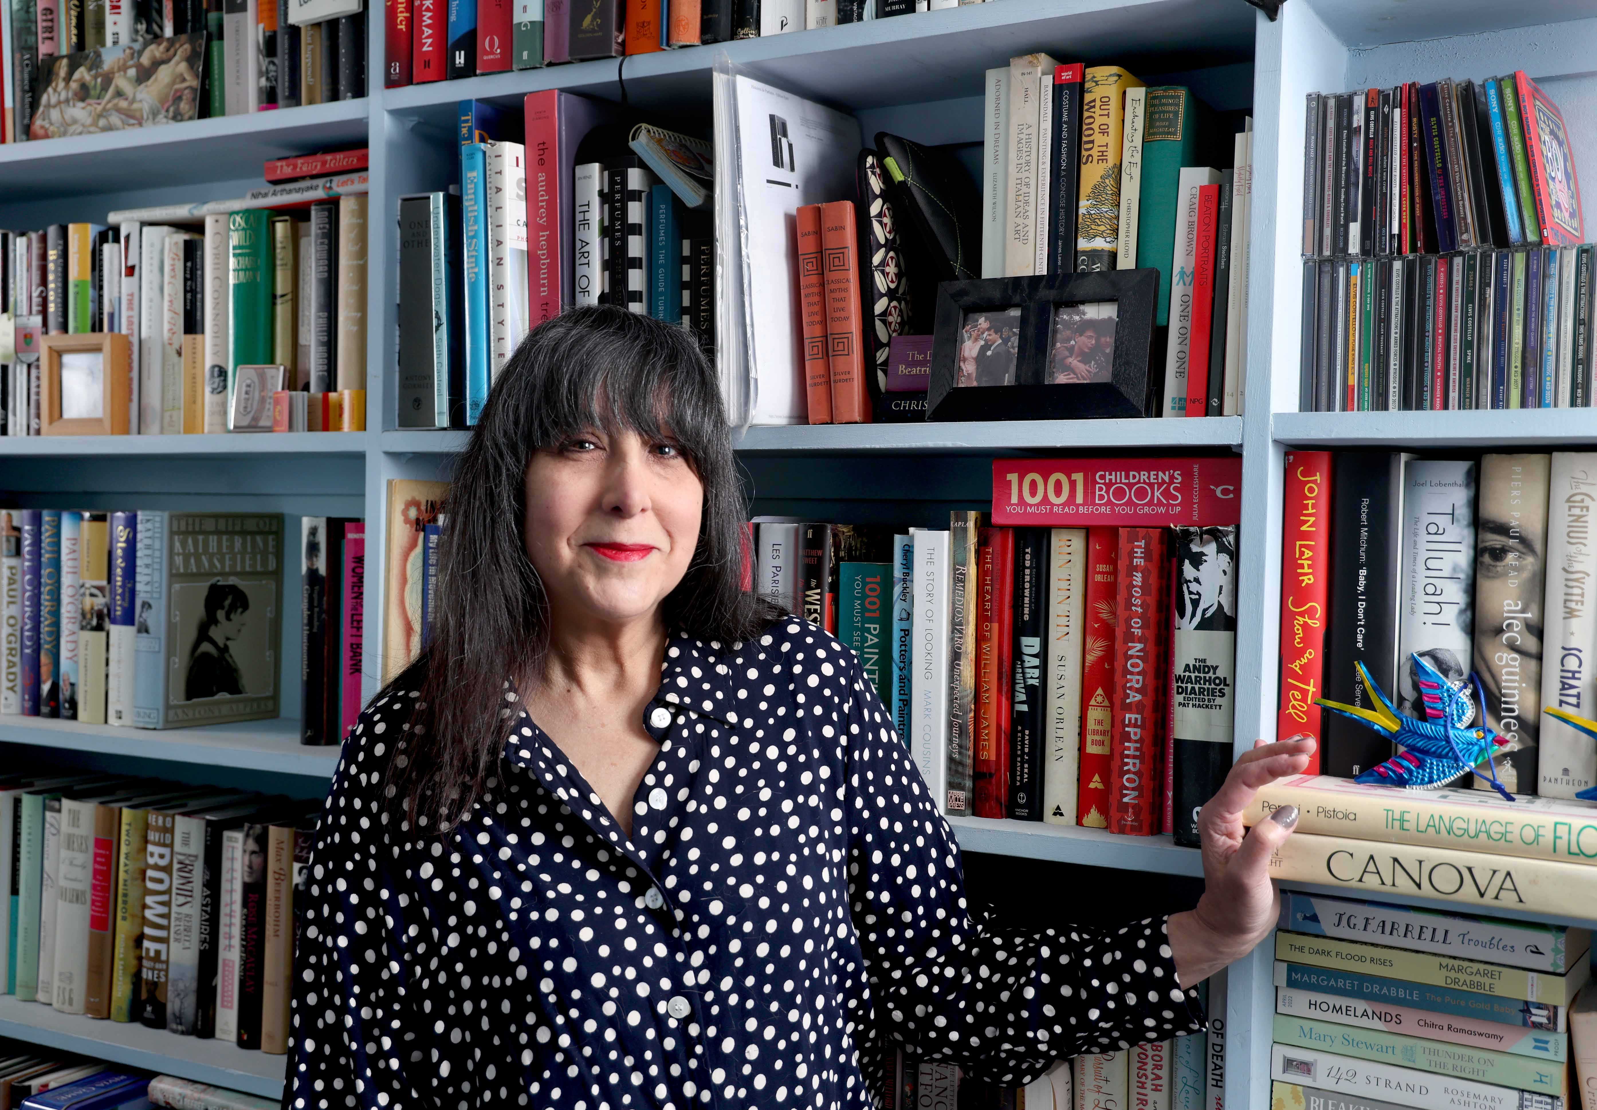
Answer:
<svg viewBox="0 0 1597 1110"><path fill-rule="evenodd" d="M1204 815L1198 909L998 934L854 655L741 589L687 332L538 327L449 495L434 639L350 735L311 861L295 1107L870 1107L894 1041L1019 1083L1199 1029L1274 925L1306 741Z"/></svg>

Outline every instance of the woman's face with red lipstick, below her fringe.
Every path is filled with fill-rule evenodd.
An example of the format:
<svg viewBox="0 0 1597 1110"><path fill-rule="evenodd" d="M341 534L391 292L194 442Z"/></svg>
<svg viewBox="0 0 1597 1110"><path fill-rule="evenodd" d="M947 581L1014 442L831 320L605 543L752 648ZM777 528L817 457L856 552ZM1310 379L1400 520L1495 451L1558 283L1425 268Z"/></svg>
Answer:
<svg viewBox="0 0 1597 1110"><path fill-rule="evenodd" d="M591 431L527 463L527 557L551 615L652 618L693 559L704 486L671 441Z"/></svg>

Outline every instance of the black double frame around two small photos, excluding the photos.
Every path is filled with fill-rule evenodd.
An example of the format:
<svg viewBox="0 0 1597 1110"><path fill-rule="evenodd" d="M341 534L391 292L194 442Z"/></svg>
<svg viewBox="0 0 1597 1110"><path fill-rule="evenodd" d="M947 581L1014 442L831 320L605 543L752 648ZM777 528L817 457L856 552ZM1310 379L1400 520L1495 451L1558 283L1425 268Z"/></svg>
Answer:
<svg viewBox="0 0 1597 1110"><path fill-rule="evenodd" d="M1159 380L1153 374L1158 270L1105 270L1032 278L981 278L937 286L926 420L1104 420L1153 417ZM1046 383L1048 337L1062 305L1116 303L1108 382ZM1020 307L1014 385L957 387L960 332L966 313Z"/></svg>

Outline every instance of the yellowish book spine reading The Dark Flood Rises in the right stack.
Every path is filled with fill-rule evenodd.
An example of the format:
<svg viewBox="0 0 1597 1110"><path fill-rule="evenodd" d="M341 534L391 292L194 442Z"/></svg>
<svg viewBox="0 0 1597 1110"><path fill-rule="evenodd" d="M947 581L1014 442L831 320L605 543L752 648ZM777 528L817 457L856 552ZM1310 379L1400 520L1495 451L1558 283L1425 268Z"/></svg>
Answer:
<svg viewBox="0 0 1597 1110"><path fill-rule="evenodd" d="M1388 949L1378 944L1302 933L1276 933L1276 958L1310 968L1357 971L1381 979L1405 979L1407 982L1468 990L1496 998L1541 1001L1549 1006L1568 1006L1575 993L1591 977L1592 966L1591 960L1576 960L1568 974L1559 976L1547 971L1504 968L1480 960L1461 960L1437 952Z"/></svg>

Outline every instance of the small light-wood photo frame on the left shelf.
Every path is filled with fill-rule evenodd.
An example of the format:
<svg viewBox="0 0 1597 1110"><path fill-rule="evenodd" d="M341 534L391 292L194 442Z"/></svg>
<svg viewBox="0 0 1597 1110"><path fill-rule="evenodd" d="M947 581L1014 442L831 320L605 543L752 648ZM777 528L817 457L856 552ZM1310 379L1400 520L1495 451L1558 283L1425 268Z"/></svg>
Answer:
<svg viewBox="0 0 1597 1110"><path fill-rule="evenodd" d="M128 434L131 355L121 332L45 335L40 340L46 436Z"/></svg>

